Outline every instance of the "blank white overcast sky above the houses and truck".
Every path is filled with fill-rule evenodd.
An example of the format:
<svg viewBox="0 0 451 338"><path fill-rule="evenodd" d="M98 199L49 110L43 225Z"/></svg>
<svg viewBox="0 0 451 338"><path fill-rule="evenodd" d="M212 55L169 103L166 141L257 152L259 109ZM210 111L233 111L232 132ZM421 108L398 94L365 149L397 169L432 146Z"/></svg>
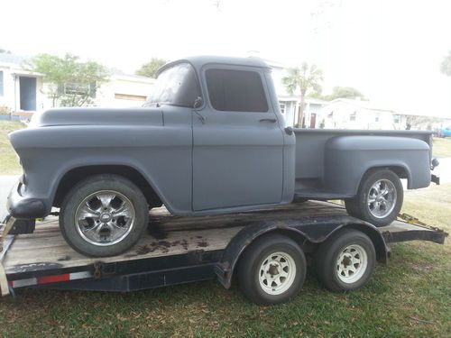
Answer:
<svg viewBox="0 0 451 338"><path fill-rule="evenodd" d="M405 114L451 118L451 1L0 0L0 48L76 54L133 73L152 57L247 56L323 70Z"/></svg>

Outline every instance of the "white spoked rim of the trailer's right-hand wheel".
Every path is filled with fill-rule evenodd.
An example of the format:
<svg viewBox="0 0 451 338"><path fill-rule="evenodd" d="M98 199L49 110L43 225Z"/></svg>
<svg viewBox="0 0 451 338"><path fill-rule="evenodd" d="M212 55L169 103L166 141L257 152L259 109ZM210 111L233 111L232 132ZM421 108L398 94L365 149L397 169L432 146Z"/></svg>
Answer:
<svg viewBox="0 0 451 338"><path fill-rule="evenodd" d="M336 275L346 284L355 283L364 276L368 267L368 256L357 244L345 247L336 260Z"/></svg>

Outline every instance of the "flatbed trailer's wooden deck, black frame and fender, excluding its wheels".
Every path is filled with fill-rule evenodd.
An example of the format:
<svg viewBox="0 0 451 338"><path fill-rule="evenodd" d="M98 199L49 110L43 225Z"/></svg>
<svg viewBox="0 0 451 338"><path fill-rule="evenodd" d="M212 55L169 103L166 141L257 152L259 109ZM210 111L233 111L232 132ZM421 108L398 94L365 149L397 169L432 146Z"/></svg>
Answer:
<svg viewBox="0 0 451 338"><path fill-rule="evenodd" d="M127 292L207 279L218 279L229 288L241 254L268 233L294 239L310 256L334 233L361 230L374 242L380 261L387 260L391 242L443 243L447 235L400 221L375 228L329 202L203 217L172 216L161 207L150 215L149 232L130 251L101 259L72 250L60 234L56 216L38 222L34 233L6 235L0 252L2 294L18 288Z"/></svg>

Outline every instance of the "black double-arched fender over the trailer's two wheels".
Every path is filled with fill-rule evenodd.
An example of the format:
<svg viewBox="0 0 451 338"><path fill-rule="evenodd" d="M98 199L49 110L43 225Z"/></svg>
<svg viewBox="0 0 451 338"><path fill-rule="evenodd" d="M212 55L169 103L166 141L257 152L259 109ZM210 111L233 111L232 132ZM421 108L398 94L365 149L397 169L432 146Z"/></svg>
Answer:
<svg viewBox="0 0 451 338"><path fill-rule="evenodd" d="M389 248L377 228L369 223L348 215L306 217L278 222L258 222L248 224L235 234L227 244L223 256L215 265L217 279L225 288L230 288L236 265L243 252L257 238L266 233L281 233L294 239L302 247L306 243L318 245L333 233L344 228L353 228L368 235L374 244L376 259L382 263L388 260Z"/></svg>

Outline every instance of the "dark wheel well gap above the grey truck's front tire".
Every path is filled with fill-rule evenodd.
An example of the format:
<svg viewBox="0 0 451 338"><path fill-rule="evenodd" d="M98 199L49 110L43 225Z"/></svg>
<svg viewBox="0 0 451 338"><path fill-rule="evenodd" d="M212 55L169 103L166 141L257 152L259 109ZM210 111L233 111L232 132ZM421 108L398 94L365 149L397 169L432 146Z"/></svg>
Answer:
<svg viewBox="0 0 451 338"><path fill-rule="evenodd" d="M62 200L68 194L71 187L89 176L98 174L115 174L130 179L136 187L139 187L150 206L161 206L161 199L155 193L147 179L136 169L122 165L86 166L69 170L60 180L53 206L60 207Z"/></svg>

